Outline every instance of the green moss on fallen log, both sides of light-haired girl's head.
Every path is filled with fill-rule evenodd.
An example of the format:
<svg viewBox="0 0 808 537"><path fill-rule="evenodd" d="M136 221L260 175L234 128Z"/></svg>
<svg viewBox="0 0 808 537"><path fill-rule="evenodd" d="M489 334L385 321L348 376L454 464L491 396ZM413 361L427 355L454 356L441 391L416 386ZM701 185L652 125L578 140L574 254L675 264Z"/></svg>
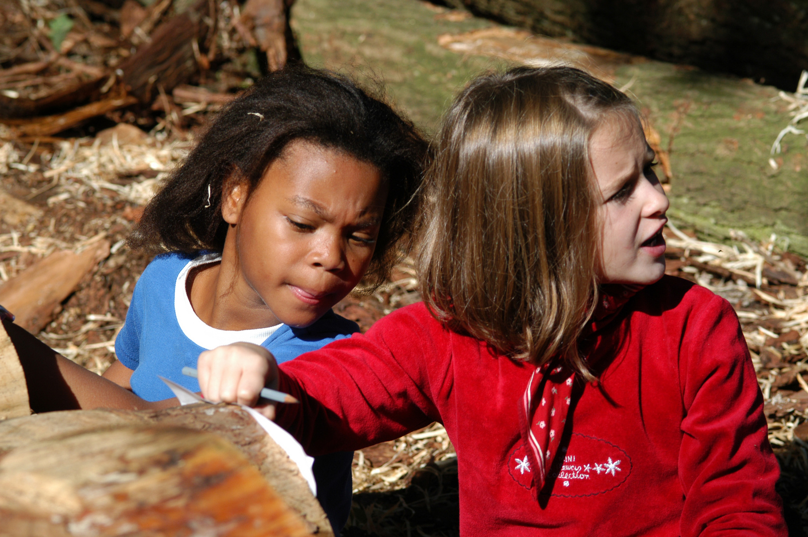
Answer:
<svg viewBox="0 0 808 537"><path fill-rule="evenodd" d="M436 19L416 0L297 0L292 28L309 65L383 82L398 107L427 133L465 82L504 61L464 57L437 44L444 33L490 27L483 19ZM698 69L643 61L617 69L671 144L671 215L710 236L742 229L751 237L788 236L808 255L808 149L786 136L778 170L768 165L777 133L789 122L777 90ZM794 81L796 86L797 81Z"/></svg>

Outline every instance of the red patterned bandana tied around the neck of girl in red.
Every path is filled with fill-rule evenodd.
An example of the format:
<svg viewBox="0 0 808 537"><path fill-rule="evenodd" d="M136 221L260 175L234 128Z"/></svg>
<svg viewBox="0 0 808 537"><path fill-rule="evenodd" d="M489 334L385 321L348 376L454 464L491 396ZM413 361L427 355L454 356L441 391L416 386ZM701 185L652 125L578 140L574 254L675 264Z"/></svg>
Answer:
<svg viewBox="0 0 808 537"><path fill-rule="evenodd" d="M628 286L614 286L608 289L608 294L603 290L587 332L595 334L608 325L637 291L638 287ZM575 372L570 366L555 362L545 363L533 371L522 397L522 436L530 446L530 464L536 469L532 472L536 495L545 485L549 468L558 452L575 380Z"/></svg>

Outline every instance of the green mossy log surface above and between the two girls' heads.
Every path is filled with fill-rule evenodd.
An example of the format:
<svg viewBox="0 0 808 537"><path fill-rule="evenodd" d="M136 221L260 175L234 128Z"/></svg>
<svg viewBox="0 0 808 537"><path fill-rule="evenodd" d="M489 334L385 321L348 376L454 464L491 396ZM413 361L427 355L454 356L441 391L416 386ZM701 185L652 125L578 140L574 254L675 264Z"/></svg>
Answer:
<svg viewBox="0 0 808 537"><path fill-rule="evenodd" d="M444 33L490 27L483 19L436 19L426 2L400 0L298 0L292 29L309 65L351 73L366 84L383 83L389 97L427 132L457 90L503 61L462 57L441 47Z"/></svg>

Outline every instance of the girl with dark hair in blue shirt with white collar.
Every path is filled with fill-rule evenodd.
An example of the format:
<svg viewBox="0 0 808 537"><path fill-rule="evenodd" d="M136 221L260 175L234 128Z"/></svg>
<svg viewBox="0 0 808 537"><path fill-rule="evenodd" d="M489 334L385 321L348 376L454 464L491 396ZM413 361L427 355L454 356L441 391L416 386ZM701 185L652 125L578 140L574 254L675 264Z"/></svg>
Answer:
<svg viewBox="0 0 808 537"><path fill-rule="evenodd" d="M358 331L331 308L378 287L406 252L426 153L412 124L335 73L295 67L256 83L146 206L129 244L159 255L104 376L160 401L173 394L158 375L200 390L182 368L204 350L262 346L283 362ZM338 531L351 459L314 463Z"/></svg>

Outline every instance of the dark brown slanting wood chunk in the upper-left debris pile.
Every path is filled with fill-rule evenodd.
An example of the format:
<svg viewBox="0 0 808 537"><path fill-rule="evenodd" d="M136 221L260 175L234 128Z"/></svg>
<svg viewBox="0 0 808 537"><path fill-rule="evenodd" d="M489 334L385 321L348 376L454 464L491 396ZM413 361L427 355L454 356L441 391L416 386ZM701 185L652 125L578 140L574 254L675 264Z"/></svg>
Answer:
<svg viewBox="0 0 808 537"><path fill-rule="evenodd" d="M208 11L215 5L215 2L199 0L190 9L155 28L149 44L138 48L120 65L129 94L140 99L141 103L151 103L158 85L170 92L196 73L199 65L194 43L198 51L204 47L210 31L209 22L216 18L215 13Z"/></svg>

